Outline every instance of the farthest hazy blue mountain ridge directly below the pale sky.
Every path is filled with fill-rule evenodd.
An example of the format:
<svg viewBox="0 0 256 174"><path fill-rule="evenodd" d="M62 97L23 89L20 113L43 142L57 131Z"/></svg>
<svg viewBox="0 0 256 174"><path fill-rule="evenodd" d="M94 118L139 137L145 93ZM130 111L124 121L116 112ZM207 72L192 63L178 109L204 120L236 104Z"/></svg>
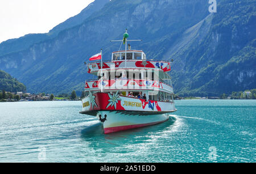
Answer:
<svg viewBox="0 0 256 174"><path fill-rule="evenodd" d="M90 3L78 15L75 15L65 20L65 22L60 23L56 27L52 28L48 33L28 34L23 37L19 37L18 39L9 39L7 41L3 41L2 43L0 43L0 56L27 49L33 44L40 43L42 41L46 41L48 39L56 37L60 31L81 24L94 12L102 9L102 7L107 2L109 2L109 0L96 0Z"/></svg>

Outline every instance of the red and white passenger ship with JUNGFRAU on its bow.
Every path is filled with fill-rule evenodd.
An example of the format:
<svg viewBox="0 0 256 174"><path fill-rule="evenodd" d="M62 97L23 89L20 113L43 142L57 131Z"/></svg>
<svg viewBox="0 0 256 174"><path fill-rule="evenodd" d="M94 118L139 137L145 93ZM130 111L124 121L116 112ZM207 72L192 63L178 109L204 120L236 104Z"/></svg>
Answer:
<svg viewBox="0 0 256 174"><path fill-rule="evenodd" d="M125 50L112 53L110 61L87 64L88 73L97 78L85 81L82 114L96 116L104 133L159 124L175 112L171 62L148 60L142 50L127 49L127 30L123 34Z"/></svg>

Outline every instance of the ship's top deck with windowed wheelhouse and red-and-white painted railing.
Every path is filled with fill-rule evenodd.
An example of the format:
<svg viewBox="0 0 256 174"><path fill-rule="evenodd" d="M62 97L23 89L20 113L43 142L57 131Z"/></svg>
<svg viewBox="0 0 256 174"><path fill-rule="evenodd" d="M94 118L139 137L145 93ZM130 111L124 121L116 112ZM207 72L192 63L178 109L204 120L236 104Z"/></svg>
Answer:
<svg viewBox="0 0 256 174"><path fill-rule="evenodd" d="M88 73L96 74L101 69L101 62L87 65ZM168 61L147 60L142 50L120 50L112 53L112 59L102 61L102 69L154 69L167 72L171 70Z"/></svg>

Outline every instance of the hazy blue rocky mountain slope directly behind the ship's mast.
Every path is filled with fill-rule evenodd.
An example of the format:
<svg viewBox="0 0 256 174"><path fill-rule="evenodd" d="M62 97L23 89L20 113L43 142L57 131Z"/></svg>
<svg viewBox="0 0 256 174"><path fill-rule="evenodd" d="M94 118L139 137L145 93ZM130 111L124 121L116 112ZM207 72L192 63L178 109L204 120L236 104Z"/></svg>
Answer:
<svg viewBox="0 0 256 174"><path fill-rule="evenodd" d="M143 40L131 43L133 49L143 49L149 58L159 60L180 31L208 14L208 2L200 0L113 0L80 26L65 29L54 39L22 52L0 57L0 66L22 80L31 92L81 91L88 77L83 62L101 48L104 59L109 59L120 45L109 40L121 39L125 28L131 39Z"/></svg>

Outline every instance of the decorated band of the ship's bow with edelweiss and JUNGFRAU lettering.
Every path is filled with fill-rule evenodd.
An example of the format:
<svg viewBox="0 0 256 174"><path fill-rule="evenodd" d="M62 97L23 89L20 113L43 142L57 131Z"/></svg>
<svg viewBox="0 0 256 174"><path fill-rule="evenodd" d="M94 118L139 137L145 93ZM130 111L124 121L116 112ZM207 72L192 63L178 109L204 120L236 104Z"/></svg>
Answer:
<svg viewBox="0 0 256 174"><path fill-rule="evenodd" d="M96 116L98 111L118 111L128 114L160 114L176 111L174 102L147 100L143 97L122 96L119 91L96 92L82 99L80 113Z"/></svg>

